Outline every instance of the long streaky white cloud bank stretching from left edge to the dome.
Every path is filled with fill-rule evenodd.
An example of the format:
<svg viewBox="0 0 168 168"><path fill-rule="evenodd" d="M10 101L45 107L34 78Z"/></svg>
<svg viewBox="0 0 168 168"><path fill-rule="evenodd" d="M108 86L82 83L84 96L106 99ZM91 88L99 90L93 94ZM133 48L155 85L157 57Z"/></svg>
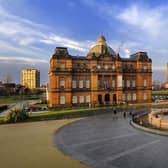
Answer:
<svg viewBox="0 0 168 168"><path fill-rule="evenodd" d="M65 46L85 53L93 42L73 40L51 32L45 25L11 14L0 3L0 54L48 58L51 48ZM38 50L37 50L38 48Z"/></svg>

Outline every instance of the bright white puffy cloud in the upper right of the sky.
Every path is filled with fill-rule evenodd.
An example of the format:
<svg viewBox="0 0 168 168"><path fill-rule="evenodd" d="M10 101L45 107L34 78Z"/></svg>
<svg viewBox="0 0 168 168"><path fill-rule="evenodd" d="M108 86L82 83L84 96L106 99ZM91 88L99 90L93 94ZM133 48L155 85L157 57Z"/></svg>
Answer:
<svg viewBox="0 0 168 168"><path fill-rule="evenodd" d="M167 7L148 8L145 6L131 5L117 15L117 18L128 25L141 29L151 38L162 35L168 21L165 20ZM134 27L133 27L134 28Z"/></svg>

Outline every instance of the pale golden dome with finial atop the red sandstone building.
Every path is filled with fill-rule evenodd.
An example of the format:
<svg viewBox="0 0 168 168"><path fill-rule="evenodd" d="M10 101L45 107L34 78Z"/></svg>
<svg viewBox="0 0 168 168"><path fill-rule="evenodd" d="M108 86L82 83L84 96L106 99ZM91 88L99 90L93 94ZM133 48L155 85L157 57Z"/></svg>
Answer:
<svg viewBox="0 0 168 168"><path fill-rule="evenodd" d="M97 44L90 49L88 56L94 54L96 57L98 57L105 53L109 55L116 55L114 50L107 45L105 37L100 35L98 37Z"/></svg>

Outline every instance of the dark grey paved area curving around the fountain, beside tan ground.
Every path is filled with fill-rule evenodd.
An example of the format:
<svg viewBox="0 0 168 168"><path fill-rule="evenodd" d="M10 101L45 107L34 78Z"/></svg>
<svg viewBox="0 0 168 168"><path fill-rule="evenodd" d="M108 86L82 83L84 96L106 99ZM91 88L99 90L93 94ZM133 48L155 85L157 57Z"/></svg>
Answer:
<svg viewBox="0 0 168 168"><path fill-rule="evenodd" d="M54 142L63 153L95 168L168 167L168 137L134 129L122 114L82 119L62 128Z"/></svg>

